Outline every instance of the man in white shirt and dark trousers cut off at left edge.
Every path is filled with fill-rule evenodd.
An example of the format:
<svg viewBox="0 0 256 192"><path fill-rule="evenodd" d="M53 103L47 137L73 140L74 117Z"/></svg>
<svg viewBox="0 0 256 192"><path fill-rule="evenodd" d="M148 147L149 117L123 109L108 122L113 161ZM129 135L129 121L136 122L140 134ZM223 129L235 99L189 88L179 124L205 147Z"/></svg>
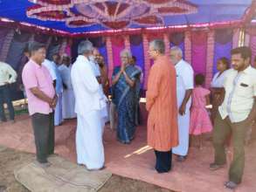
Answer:
<svg viewBox="0 0 256 192"><path fill-rule="evenodd" d="M3 108L4 100L10 113L10 121L14 122L14 108L11 101L10 84L14 83L16 79L17 73L11 66L0 62L0 122L6 121Z"/></svg>

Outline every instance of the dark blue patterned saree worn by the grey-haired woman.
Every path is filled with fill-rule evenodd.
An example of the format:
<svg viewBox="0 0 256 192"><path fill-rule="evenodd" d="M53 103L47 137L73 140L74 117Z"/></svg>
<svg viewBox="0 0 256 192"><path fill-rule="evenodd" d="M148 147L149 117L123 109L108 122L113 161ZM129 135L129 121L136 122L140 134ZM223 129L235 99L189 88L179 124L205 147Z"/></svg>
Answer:
<svg viewBox="0 0 256 192"><path fill-rule="evenodd" d="M113 78L120 70L121 67L114 69ZM113 102L118 114L116 128L117 140L121 141L121 143L130 143L135 137L135 111L139 97L136 85L140 81L141 72L133 65L128 65L125 72L130 79L135 81L135 86L129 86L124 75L121 74L120 79L112 88Z"/></svg>

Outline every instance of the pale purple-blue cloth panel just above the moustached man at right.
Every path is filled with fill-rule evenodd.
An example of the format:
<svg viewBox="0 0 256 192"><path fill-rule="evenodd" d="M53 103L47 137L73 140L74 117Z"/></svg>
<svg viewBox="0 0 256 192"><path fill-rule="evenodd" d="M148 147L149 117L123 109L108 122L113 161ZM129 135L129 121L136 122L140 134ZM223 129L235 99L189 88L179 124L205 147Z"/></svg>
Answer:
<svg viewBox="0 0 256 192"><path fill-rule="evenodd" d="M215 74L217 70L218 58L231 58L230 51L232 50L232 30L217 30L215 31L215 45L212 72Z"/></svg>

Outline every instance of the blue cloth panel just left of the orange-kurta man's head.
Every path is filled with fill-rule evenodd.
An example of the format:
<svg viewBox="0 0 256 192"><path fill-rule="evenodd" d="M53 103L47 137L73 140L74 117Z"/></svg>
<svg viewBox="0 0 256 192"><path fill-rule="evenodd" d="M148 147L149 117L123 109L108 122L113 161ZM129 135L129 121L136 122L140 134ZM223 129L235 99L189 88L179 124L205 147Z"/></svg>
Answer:
<svg viewBox="0 0 256 192"><path fill-rule="evenodd" d="M143 74L145 74L145 69L144 69L144 49L143 49L143 42L142 42L142 36L141 35L133 35L130 36L130 47L131 47L131 52L132 55L135 56L137 59L136 65L139 65L142 68ZM144 84L144 78L143 78L143 83L141 87L143 87Z"/></svg>

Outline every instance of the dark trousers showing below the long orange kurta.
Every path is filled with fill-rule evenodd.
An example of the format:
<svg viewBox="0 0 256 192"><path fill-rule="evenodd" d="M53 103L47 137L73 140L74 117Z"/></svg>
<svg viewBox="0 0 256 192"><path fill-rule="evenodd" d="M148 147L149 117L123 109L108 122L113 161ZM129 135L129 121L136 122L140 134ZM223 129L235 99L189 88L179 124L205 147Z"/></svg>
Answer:
<svg viewBox="0 0 256 192"><path fill-rule="evenodd" d="M166 173L171 169L172 151L163 152L156 151L156 171L158 173Z"/></svg>

